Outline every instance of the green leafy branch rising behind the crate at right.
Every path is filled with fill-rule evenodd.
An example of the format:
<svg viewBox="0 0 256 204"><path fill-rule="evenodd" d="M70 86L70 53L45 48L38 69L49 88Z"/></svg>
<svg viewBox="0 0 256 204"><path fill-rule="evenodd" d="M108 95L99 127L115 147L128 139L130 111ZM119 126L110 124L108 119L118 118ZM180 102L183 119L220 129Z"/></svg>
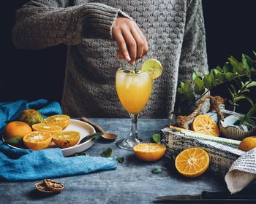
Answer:
<svg viewBox="0 0 256 204"><path fill-rule="evenodd" d="M254 55L256 56L255 52ZM224 66L217 66L211 69L208 74L194 71L192 82L181 82L178 87L178 100L181 103L176 104L176 114L187 114L184 107L192 106L214 87L225 83L230 85L228 101L232 106L238 106L238 101L243 99L255 106L252 98L246 95L251 87L256 87L255 68L256 60L252 60L248 55L243 54L241 62L231 56Z"/></svg>

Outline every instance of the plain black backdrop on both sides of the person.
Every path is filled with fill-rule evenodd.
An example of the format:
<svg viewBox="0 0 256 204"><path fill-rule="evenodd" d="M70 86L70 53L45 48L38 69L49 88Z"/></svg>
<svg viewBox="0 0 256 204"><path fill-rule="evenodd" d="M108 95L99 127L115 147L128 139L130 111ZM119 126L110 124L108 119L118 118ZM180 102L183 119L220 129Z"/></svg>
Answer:
<svg viewBox="0 0 256 204"><path fill-rule="evenodd" d="M15 9L26 0L1 2L0 101L46 98L61 101L66 63L66 47L45 50L16 50L12 45ZM223 65L230 55L252 55L255 49L254 0L203 0L209 68ZM224 93L216 89L214 94ZM246 110L245 106L240 107Z"/></svg>

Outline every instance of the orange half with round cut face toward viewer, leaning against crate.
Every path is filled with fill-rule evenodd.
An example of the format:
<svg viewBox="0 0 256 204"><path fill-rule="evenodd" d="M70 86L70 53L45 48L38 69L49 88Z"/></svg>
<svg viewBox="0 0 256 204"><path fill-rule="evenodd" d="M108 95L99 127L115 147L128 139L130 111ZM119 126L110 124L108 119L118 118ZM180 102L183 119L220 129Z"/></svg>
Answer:
<svg viewBox="0 0 256 204"><path fill-rule="evenodd" d="M209 156L202 148L185 149L178 154L175 167L179 173L189 178L202 175L209 166Z"/></svg>

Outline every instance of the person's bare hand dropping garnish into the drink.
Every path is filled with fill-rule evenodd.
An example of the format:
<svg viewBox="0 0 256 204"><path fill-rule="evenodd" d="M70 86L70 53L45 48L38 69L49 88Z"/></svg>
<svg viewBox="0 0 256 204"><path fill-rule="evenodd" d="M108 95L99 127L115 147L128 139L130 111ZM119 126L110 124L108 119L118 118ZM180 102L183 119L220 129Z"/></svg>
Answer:
<svg viewBox="0 0 256 204"><path fill-rule="evenodd" d="M113 38L116 40L124 59L131 65L143 58L148 52L148 42L143 32L134 20L127 17L117 17L112 28Z"/></svg>

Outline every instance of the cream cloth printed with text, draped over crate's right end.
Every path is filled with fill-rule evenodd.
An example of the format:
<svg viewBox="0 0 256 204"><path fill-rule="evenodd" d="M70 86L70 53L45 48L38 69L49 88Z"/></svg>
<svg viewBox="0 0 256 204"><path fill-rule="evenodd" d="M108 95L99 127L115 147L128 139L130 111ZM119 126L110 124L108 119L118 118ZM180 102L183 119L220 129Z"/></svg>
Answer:
<svg viewBox="0 0 256 204"><path fill-rule="evenodd" d="M256 178L256 148L241 155L228 170L225 181L231 193L244 189Z"/></svg>

